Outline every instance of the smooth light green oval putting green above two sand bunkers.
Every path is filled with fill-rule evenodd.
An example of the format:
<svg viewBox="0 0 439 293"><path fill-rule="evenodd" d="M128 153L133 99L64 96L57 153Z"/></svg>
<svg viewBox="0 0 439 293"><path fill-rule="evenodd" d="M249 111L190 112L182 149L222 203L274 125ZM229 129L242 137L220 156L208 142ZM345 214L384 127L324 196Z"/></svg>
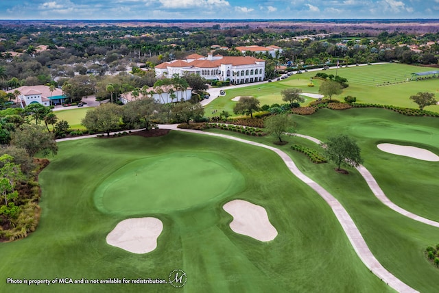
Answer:
<svg viewBox="0 0 439 293"><path fill-rule="evenodd" d="M244 177L212 153L171 153L115 170L95 191L102 212L139 214L189 209L239 192Z"/></svg>

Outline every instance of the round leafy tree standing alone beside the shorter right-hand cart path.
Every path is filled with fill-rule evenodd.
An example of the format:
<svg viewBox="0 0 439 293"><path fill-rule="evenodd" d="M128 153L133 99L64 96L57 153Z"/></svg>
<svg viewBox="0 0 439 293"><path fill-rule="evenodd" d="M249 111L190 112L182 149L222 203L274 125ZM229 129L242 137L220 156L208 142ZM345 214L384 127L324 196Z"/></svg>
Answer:
<svg viewBox="0 0 439 293"><path fill-rule="evenodd" d="M357 142L346 134L330 136L324 144L324 153L328 160L337 165L337 170L340 170L340 166L356 167L363 163Z"/></svg>

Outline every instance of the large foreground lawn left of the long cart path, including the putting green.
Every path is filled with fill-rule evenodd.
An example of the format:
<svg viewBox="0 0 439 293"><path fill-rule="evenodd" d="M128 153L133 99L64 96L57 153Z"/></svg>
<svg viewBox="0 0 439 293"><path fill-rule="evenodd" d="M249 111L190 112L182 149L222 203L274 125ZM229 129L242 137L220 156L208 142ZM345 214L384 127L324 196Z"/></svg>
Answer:
<svg viewBox="0 0 439 293"><path fill-rule="evenodd" d="M112 180L119 178L119 185ZM218 190L216 180L231 187ZM0 244L5 292L175 292L170 285L5 283L6 277L167 279L174 269L187 273L185 292L392 291L361 263L327 203L276 154L257 146L175 131L158 138L60 142L40 184L37 231ZM111 209L95 204L102 194L115 201ZM232 217L222 205L233 199L265 207L276 239L259 242L231 231ZM136 255L106 244L115 225L133 216L163 221L151 253Z"/></svg>

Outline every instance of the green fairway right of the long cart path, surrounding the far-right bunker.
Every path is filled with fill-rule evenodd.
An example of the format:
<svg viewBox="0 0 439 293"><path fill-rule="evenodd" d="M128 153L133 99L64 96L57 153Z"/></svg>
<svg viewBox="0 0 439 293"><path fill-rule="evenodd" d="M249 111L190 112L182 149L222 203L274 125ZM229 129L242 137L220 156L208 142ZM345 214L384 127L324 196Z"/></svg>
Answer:
<svg viewBox="0 0 439 293"><path fill-rule="evenodd" d="M365 110L365 111L363 111ZM439 221L438 162L425 162L385 153L377 149L381 142L393 142L429 149L439 154L439 119L407 117L382 109L319 110L312 116L294 116L298 132L325 140L335 133L348 133L357 139L370 170L388 198L404 209ZM219 132L218 129L209 131ZM222 131L224 133L224 131ZM273 145L272 137L254 138L227 131L232 136ZM312 164L289 149L294 143L320 150L305 138L285 138L289 144L280 149L289 153L305 175L333 194L351 215L372 253L396 277L420 292L436 292L439 270L427 262L424 250L439 243L439 230L424 225L383 205L370 191L366 181L350 170L336 173L333 164ZM278 146L276 146L278 147Z"/></svg>

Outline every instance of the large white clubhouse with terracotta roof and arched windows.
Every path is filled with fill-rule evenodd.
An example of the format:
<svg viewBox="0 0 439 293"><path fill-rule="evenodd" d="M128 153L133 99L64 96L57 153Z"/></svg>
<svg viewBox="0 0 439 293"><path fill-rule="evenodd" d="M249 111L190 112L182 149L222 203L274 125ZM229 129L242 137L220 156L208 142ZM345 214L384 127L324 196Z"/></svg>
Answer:
<svg viewBox="0 0 439 293"><path fill-rule="evenodd" d="M207 80L228 81L230 84L248 84L263 81L265 60L254 57L222 56L207 57L192 54L185 60L163 62L155 67L156 77L171 77L174 74L197 74Z"/></svg>

